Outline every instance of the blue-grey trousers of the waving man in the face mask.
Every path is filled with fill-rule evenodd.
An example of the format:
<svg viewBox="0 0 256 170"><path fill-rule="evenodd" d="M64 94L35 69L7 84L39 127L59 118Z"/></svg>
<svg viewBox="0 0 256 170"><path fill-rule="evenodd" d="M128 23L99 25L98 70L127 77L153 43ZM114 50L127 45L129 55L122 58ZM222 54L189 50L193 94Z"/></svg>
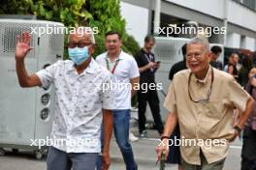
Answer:
<svg viewBox="0 0 256 170"><path fill-rule="evenodd" d="M48 170L92 170L95 169L98 153L65 153L48 147Z"/></svg>

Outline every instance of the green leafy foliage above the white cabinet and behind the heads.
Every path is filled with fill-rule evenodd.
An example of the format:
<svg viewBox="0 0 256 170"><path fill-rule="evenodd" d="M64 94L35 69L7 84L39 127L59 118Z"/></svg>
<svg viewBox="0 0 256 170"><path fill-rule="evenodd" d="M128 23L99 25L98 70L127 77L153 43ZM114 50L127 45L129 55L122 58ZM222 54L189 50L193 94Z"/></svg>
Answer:
<svg viewBox="0 0 256 170"><path fill-rule="evenodd" d="M120 0L1 0L0 14L35 14L39 19L62 22L67 27L98 27L95 55L105 50L105 34L111 30L121 33L125 51L134 53L139 46L125 32Z"/></svg>

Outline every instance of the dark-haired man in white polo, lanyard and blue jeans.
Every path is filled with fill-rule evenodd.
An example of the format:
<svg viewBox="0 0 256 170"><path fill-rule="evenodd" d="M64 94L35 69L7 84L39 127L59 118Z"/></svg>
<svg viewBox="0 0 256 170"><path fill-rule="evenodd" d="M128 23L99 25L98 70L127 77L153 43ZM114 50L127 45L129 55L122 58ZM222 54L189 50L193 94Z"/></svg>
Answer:
<svg viewBox="0 0 256 170"><path fill-rule="evenodd" d="M131 98L136 93L133 87L139 85L140 72L135 59L121 50L119 32L108 32L105 44L108 51L99 55L96 61L112 72L116 104L112 110L114 136L126 169L135 170L138 167L129 143L129 120Z"/></svg>

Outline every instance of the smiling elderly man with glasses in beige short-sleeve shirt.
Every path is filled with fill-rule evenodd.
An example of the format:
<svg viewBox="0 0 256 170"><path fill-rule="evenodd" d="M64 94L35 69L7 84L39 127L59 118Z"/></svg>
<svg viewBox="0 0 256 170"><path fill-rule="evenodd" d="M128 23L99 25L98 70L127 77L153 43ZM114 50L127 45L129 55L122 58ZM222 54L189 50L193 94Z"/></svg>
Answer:
<svg viewBox="0 0 256 170"><path fill-rule="evenodd" d="M234 77L209 65L208 41L194 38L187 43L188 70L176 73L165 99L170 114L161 143L160 158L169 152L168 140L178 121L181 164L186 170L220 170L228 154L229 142L236 139L248 119L254 100ZM242 112L233 127L233 109ZM177 143L176 143L177 144Z"/></svg>

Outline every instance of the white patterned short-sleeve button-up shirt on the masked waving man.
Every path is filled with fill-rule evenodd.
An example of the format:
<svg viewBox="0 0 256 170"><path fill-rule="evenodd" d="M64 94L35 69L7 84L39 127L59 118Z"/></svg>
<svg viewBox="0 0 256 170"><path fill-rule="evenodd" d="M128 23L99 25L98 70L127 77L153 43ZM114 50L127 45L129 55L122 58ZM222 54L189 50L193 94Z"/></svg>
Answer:
<svg viewBox="0 0 256 170"><path fill-rule="evenodd" d="M55 87L51 146L66 153L100 153L102 109L114 108L112 90L101 87L111 82L111 73L92 59L80 74L71 60L36 74L43 88Z"/></svg>

